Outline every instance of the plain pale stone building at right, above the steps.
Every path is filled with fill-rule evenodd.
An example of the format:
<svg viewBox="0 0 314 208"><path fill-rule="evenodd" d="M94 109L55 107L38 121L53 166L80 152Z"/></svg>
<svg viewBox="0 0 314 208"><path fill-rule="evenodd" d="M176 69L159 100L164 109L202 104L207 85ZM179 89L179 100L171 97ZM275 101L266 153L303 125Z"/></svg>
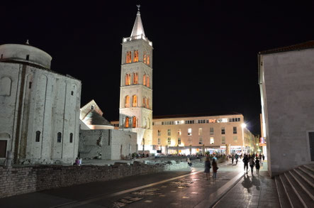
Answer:
<svg viewBox="0 0 314 208"><path fill-rule="evenodd" d="M314 41L259 53L271 177L314 161Z"/></svg>

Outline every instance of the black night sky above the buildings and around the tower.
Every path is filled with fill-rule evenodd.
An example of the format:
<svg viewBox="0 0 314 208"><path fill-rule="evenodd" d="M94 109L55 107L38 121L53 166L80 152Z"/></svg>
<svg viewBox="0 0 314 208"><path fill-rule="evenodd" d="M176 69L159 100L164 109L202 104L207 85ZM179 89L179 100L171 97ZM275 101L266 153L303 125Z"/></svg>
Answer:
<svg viewBox="0 0 314 208"><path fill-rule="evenodd" d="M118 120L120 43L136 4L154 47L156 116L237 111L259 133L257 53L314 39L310 1L8 2L0 44L29 39L45 50L52 70L82 80L82 106L95 99L109 121Z"/></svg>

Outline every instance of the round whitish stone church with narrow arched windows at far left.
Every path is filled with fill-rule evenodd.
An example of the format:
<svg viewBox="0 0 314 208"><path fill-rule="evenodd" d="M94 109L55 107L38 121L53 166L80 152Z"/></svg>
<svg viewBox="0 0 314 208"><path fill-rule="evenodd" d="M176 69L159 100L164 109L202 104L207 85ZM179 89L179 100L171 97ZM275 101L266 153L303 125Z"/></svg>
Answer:
<svg viewBox="0 0 314 208"><path fill-rule="evenodd" d="M50 70L30 45L0 45L0 163L73 163L79 141L81 81Z"/></svg>

